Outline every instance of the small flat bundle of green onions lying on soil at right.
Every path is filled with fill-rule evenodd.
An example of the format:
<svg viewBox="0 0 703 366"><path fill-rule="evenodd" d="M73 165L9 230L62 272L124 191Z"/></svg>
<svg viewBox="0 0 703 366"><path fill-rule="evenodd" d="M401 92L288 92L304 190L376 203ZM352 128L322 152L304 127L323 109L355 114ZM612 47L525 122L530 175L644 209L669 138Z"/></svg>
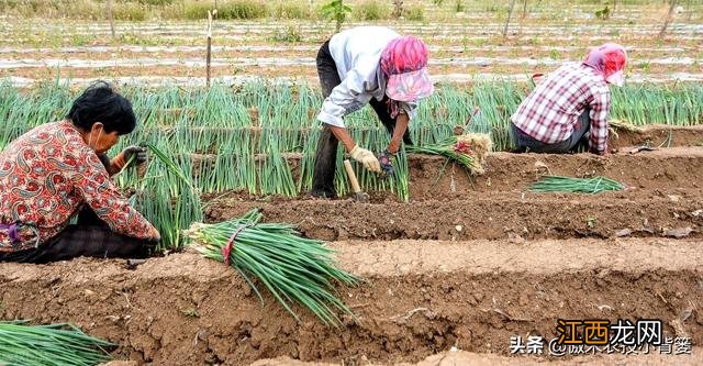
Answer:
<svg viewBox="0 0 703 366"><path fill-rule="evenodd" d="M573 193L600 193L603 191L620 191L625 187L613 179L605 177L571 178L560 176L544 176L532 185L534 192L573 192Z"/></svg>

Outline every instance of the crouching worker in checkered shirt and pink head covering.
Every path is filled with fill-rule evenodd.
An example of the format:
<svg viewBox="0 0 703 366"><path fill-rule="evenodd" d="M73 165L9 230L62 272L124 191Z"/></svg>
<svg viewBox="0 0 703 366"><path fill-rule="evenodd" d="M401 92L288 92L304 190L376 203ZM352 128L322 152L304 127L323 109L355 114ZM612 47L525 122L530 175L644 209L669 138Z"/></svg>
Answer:
<svg viewBox="0 0 703 366"><path fill-rule="evenodd" d="M582 143L603 155L607 151L611 110L609 84L623 85L625 49L606 43L591 49L580 64L549 74L511 117L517 152L568 153Z"/></svg>

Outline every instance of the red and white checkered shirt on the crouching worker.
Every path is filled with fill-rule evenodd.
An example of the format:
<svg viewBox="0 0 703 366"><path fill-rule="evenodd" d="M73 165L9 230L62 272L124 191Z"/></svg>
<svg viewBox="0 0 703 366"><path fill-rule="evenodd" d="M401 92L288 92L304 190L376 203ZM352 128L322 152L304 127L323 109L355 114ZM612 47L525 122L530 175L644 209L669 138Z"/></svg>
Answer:
<svg viewBox="0 0 703 366"><path fill-rule="evenodd" d="M562 142L573 133L579 117L590 108L590 149L607 149L611 91L602 75L582 64L567 64L549 74L517 107L511 121L546 144Z"/></svg>

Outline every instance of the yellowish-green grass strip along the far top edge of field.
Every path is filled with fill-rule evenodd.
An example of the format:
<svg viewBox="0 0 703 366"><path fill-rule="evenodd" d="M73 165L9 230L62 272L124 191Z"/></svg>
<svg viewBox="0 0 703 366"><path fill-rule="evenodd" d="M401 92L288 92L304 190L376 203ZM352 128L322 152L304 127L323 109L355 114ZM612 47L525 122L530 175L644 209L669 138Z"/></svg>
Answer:
<svg viewBox="0 0 703 366"><path fill-rule="evenodd" d="M115 20L147 21L163 20L192 20L204 19L208 10L217 9L219 19L257 20L264 18L322 20L326 19L324 8L339 0L313 0L313 1L264 1L264 0L112 0L111 10ZM565 9L576 7L594 16L605 20L613 15L615 2L618 10L635 7L661 5L661 0L581 0L581 1L535 1L521 0L514 12L526 18L533 12L540 13L549 19L548 13L561 12ZM38 16L38 18L69 18L86 20L104 20L108 0L0 0L0 12L10 15ZM465 12L487 12L498 14L504 19L510 13L510 0L482 1L482 0L344 0L349 7L346 13L358 21L376 21L404 19L410 21L424 21L426 18L440 19L455 16ZM700 4L695 0L682 0L679 4L687 10L688 21L699 13ZM609 8L610 7L610 8ZM425 14L426 10L429 10Z"/></svg>

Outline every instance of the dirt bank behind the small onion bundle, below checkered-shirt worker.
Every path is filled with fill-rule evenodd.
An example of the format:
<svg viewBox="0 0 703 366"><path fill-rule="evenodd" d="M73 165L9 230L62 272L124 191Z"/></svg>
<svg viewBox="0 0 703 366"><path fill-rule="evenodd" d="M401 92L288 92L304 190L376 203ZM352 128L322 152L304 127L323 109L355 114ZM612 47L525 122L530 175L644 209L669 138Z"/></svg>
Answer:
<svg viewBox="0 0 703 366"><path fill-rule="evenodd" d="M626 151L606 156L492 153L486 158L486 174L475 179L454 165L448 165L442 174L445 164L442 157L417 157L409 162L410 197L421 200L476 191L521 191L544 174L604 176L636 189L700 189L703 185L703 147L637 154Z"/></svg>

